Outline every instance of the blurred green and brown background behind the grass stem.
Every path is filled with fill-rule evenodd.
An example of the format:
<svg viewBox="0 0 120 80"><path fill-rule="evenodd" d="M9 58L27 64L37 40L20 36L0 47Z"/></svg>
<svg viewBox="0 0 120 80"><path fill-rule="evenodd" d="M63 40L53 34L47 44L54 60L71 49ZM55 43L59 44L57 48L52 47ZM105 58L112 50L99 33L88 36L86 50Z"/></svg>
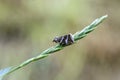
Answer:
<svg viewBox="0 0 120 80"><path fill-rule="evenodd" d="M0 0L0 69L18 65L108 18L84 39L15 71L5 80L120 80L119 0Z"/></svg>

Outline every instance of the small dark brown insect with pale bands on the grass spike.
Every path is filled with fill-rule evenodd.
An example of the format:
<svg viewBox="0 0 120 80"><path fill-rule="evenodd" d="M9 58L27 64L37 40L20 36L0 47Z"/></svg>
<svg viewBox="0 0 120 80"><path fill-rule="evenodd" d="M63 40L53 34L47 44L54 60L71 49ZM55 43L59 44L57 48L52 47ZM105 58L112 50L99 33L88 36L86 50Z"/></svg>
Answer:
<svg viewBox="0 0 120 80"><path fill-rule="evenodd" d="M55 37L53 39L53 42L59 43L61 46L68 46L74 43L74 38L71 33L60 36L60 37Z"/></svg>

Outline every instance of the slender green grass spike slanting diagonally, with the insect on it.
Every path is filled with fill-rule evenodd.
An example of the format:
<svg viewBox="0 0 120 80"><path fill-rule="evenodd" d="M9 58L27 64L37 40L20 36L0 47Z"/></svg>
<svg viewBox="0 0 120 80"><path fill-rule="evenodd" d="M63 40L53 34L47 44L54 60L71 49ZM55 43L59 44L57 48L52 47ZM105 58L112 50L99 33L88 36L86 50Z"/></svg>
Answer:
<svg viewBox="0 0 120 80"><path fill-rule="evenodd" d="M96 19L90 25L85 27L82 31L79 31L79 32L76 32L75 34L73 34L74 40L77 41L77 40L82 39L83 37L85 37L88 33L93 31L97 27L97 25L100 24L105 18L107 18L107 15ZM31 62L34 62L34 61L40 60L42 58L45 58L45 57L49 56L51 53L59 51L59 50L63 49L64 47L65 46L61 46L61 45L57 44L56 46L53 46L53 47L48 48L47 50L43 51L38 56L30 58L30 59L24 61L23 63L21 63L18 66L14 66L12 68L9 67L9 68L5 68L5 69L0 70L0 80L2 80L5 75L8 75L8 74L18 70L18 69L26 66L27 64L31 63Z"/></svg>

